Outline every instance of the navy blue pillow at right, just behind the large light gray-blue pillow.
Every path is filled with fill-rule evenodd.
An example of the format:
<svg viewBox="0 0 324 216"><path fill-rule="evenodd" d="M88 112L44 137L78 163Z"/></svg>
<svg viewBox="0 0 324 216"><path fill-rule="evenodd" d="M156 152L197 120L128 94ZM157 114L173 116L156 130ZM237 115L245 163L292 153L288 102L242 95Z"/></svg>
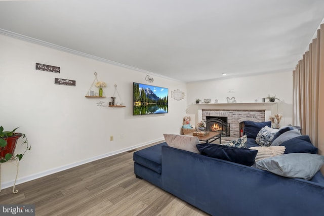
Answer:
<svg viewBox="0 0 324 216"><path fill-rule="evenodd" d="M311 154L317 154L318 149L313 146L311 143L309 137L306 136L298 136L295 138L292 138L290 140L287 140L283 143L281 143L280 146L285 146L286 151L284 154L289 153L311 153Z"/></svg>

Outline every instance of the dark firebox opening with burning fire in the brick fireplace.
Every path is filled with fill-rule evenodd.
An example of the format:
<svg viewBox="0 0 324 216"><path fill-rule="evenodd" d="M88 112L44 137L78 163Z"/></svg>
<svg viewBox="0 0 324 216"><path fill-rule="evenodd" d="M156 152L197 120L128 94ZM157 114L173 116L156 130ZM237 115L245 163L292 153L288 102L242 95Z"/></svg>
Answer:
<svg viewBox="0 0 324 216"><path fill-rule="evenodd" d="M230 123L227 122L227 117L221 116L206 116L207 131L222 132L222 136L230 136Z"/></svg>

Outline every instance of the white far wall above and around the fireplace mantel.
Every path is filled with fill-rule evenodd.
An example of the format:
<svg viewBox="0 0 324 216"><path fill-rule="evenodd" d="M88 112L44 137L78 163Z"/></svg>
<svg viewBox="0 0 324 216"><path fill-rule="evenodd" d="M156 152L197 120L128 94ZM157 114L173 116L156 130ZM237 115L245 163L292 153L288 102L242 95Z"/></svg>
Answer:
<svg viewBox="0 0 324 216"><path fill-rule="evenodd" d="M280 125L292 124L293 111L293 75L292 71L261 74L256 76L224 78L187 83L187 113L196 118L197 106L195 99L204 100L210 98L211 103L218 99L218 103L227 103L226 98L234 97L237 103L253 103L255 99L261 102L269 94L276 96L281 102L278 103L278 111L283 117Z"/></svg>

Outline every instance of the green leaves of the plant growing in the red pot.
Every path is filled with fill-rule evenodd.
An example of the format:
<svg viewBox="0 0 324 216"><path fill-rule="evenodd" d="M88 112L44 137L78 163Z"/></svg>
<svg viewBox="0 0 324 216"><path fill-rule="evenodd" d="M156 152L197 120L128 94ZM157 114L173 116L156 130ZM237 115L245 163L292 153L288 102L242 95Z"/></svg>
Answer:
<svg viewBox="0 0 324 216"><path fill-rule="evenodd" d="M13 129L13 131L4 131L4 127L0 126L0 152L3 151L5 149L5 147L8 145L7 139L13 136L17 136L19 135L22 138L22 143L21 145L25 144L26 145L26 150L24 151L24 153L22 154L17 154L16 157L21 160L21 158L23 157L23 155L26 153L27 150L30 150L30 146L28 144L28 140L25 134L22 133L16 133L16 129L18 129L19 127L16 127L15 129ZM8 160L10 160L12 158L12 154L11 153L7 153L5 155L5 157L0 157L0 163L4 163L7 162Z"/></svg>

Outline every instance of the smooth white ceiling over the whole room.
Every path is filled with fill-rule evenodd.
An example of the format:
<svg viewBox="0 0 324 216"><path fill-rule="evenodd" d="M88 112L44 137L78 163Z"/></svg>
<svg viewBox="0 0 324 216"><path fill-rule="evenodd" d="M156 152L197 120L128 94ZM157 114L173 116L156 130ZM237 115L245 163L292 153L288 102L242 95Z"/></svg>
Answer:
<svg viewBox="0 0 324 216"><path fill-rule="evenodd" d="M0 33L185 82L292 71L323 17L323 0L0 1Z"/></svg>

